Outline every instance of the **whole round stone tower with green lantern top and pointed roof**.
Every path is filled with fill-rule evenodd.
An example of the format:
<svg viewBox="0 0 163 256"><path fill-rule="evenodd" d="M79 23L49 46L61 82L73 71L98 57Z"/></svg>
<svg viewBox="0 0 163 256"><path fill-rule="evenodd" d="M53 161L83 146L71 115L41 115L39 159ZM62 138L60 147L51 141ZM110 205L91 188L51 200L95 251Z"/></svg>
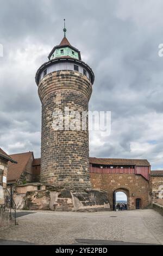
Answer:
<svg viewBox="0 0 163 256"><path fill-rule="evenodd" d="M91 188L89 175L89 131L67 129L62 122L60 129L54 129L56 113L63 113L67 120L73 111L88 111L94 74L81 59L80 52L66 38L49 53L48 62L36 72L36 84L42 103L41 131L41 176L40 181L52 184L56 190L70 188L83 191ZM67 112L66 112L67 113ZM71 118L70 118L71 120Z"/></svg>

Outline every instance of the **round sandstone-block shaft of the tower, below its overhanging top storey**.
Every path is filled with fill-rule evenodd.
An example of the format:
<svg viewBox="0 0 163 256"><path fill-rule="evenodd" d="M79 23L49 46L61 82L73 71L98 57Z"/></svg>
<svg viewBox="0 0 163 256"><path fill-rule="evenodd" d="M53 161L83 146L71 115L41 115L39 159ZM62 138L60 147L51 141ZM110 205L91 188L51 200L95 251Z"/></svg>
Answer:
<svg viewBox="0 0 163 256"><path fill-rule="evenodd" d="M52 72L39 84L42 102L40 181L54 184L56 190L91 188L88 130L54 131L52 127L54 111L64 113L65 107L80 113L87 111L91 93L89 79L76 71Z"/></svg>

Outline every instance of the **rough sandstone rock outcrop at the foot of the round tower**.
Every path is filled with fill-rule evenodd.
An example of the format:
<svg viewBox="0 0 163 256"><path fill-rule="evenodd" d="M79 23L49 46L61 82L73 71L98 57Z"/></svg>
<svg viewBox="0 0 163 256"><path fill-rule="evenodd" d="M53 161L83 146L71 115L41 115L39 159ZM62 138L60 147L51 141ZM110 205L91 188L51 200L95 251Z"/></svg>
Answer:
<svg viewBox="0 0 163 256"><path fill-rule="evenodd" d="M60 192L40 190L15 194L17 209L52 211L102 211L110 210L107 193L102 190L73 192L63 189Z"/></svg>

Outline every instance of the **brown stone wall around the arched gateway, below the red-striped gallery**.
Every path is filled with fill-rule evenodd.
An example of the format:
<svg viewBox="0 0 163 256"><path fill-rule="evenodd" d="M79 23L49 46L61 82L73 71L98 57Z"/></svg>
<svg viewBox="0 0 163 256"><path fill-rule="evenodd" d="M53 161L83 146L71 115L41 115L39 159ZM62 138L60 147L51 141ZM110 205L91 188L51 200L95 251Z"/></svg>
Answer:
<svg viewBox="0 0 163 256"><path fill-rule="evenodd" d="M141 199L141 208L151 204L152 184L141 175L135 174L98 174L90 173L93 188L108 192L112 209L113 192L122 191L127 194L129 209L136 209L136 198Z"/></svg>

